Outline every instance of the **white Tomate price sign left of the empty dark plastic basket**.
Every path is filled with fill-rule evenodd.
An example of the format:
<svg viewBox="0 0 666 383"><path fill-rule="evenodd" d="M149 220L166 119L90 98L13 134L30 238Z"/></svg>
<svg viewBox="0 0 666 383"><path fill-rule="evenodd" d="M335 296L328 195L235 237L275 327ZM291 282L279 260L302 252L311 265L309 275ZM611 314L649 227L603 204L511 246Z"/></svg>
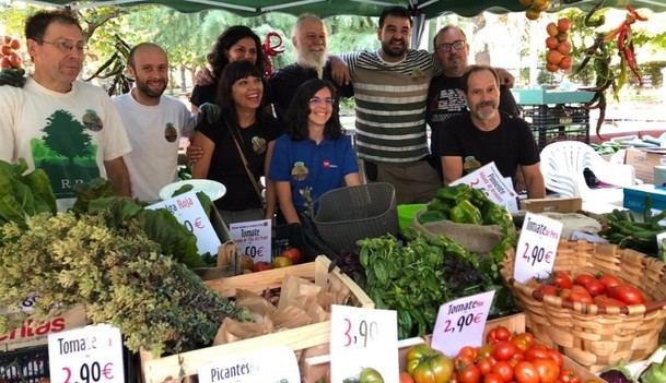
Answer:
<svg viewBox="0 0 666 383"><path fill-rule="evenodd" d="M271 261L270 219L231 224L229 231L238 251L252 256L254 262Z"/></svg>

